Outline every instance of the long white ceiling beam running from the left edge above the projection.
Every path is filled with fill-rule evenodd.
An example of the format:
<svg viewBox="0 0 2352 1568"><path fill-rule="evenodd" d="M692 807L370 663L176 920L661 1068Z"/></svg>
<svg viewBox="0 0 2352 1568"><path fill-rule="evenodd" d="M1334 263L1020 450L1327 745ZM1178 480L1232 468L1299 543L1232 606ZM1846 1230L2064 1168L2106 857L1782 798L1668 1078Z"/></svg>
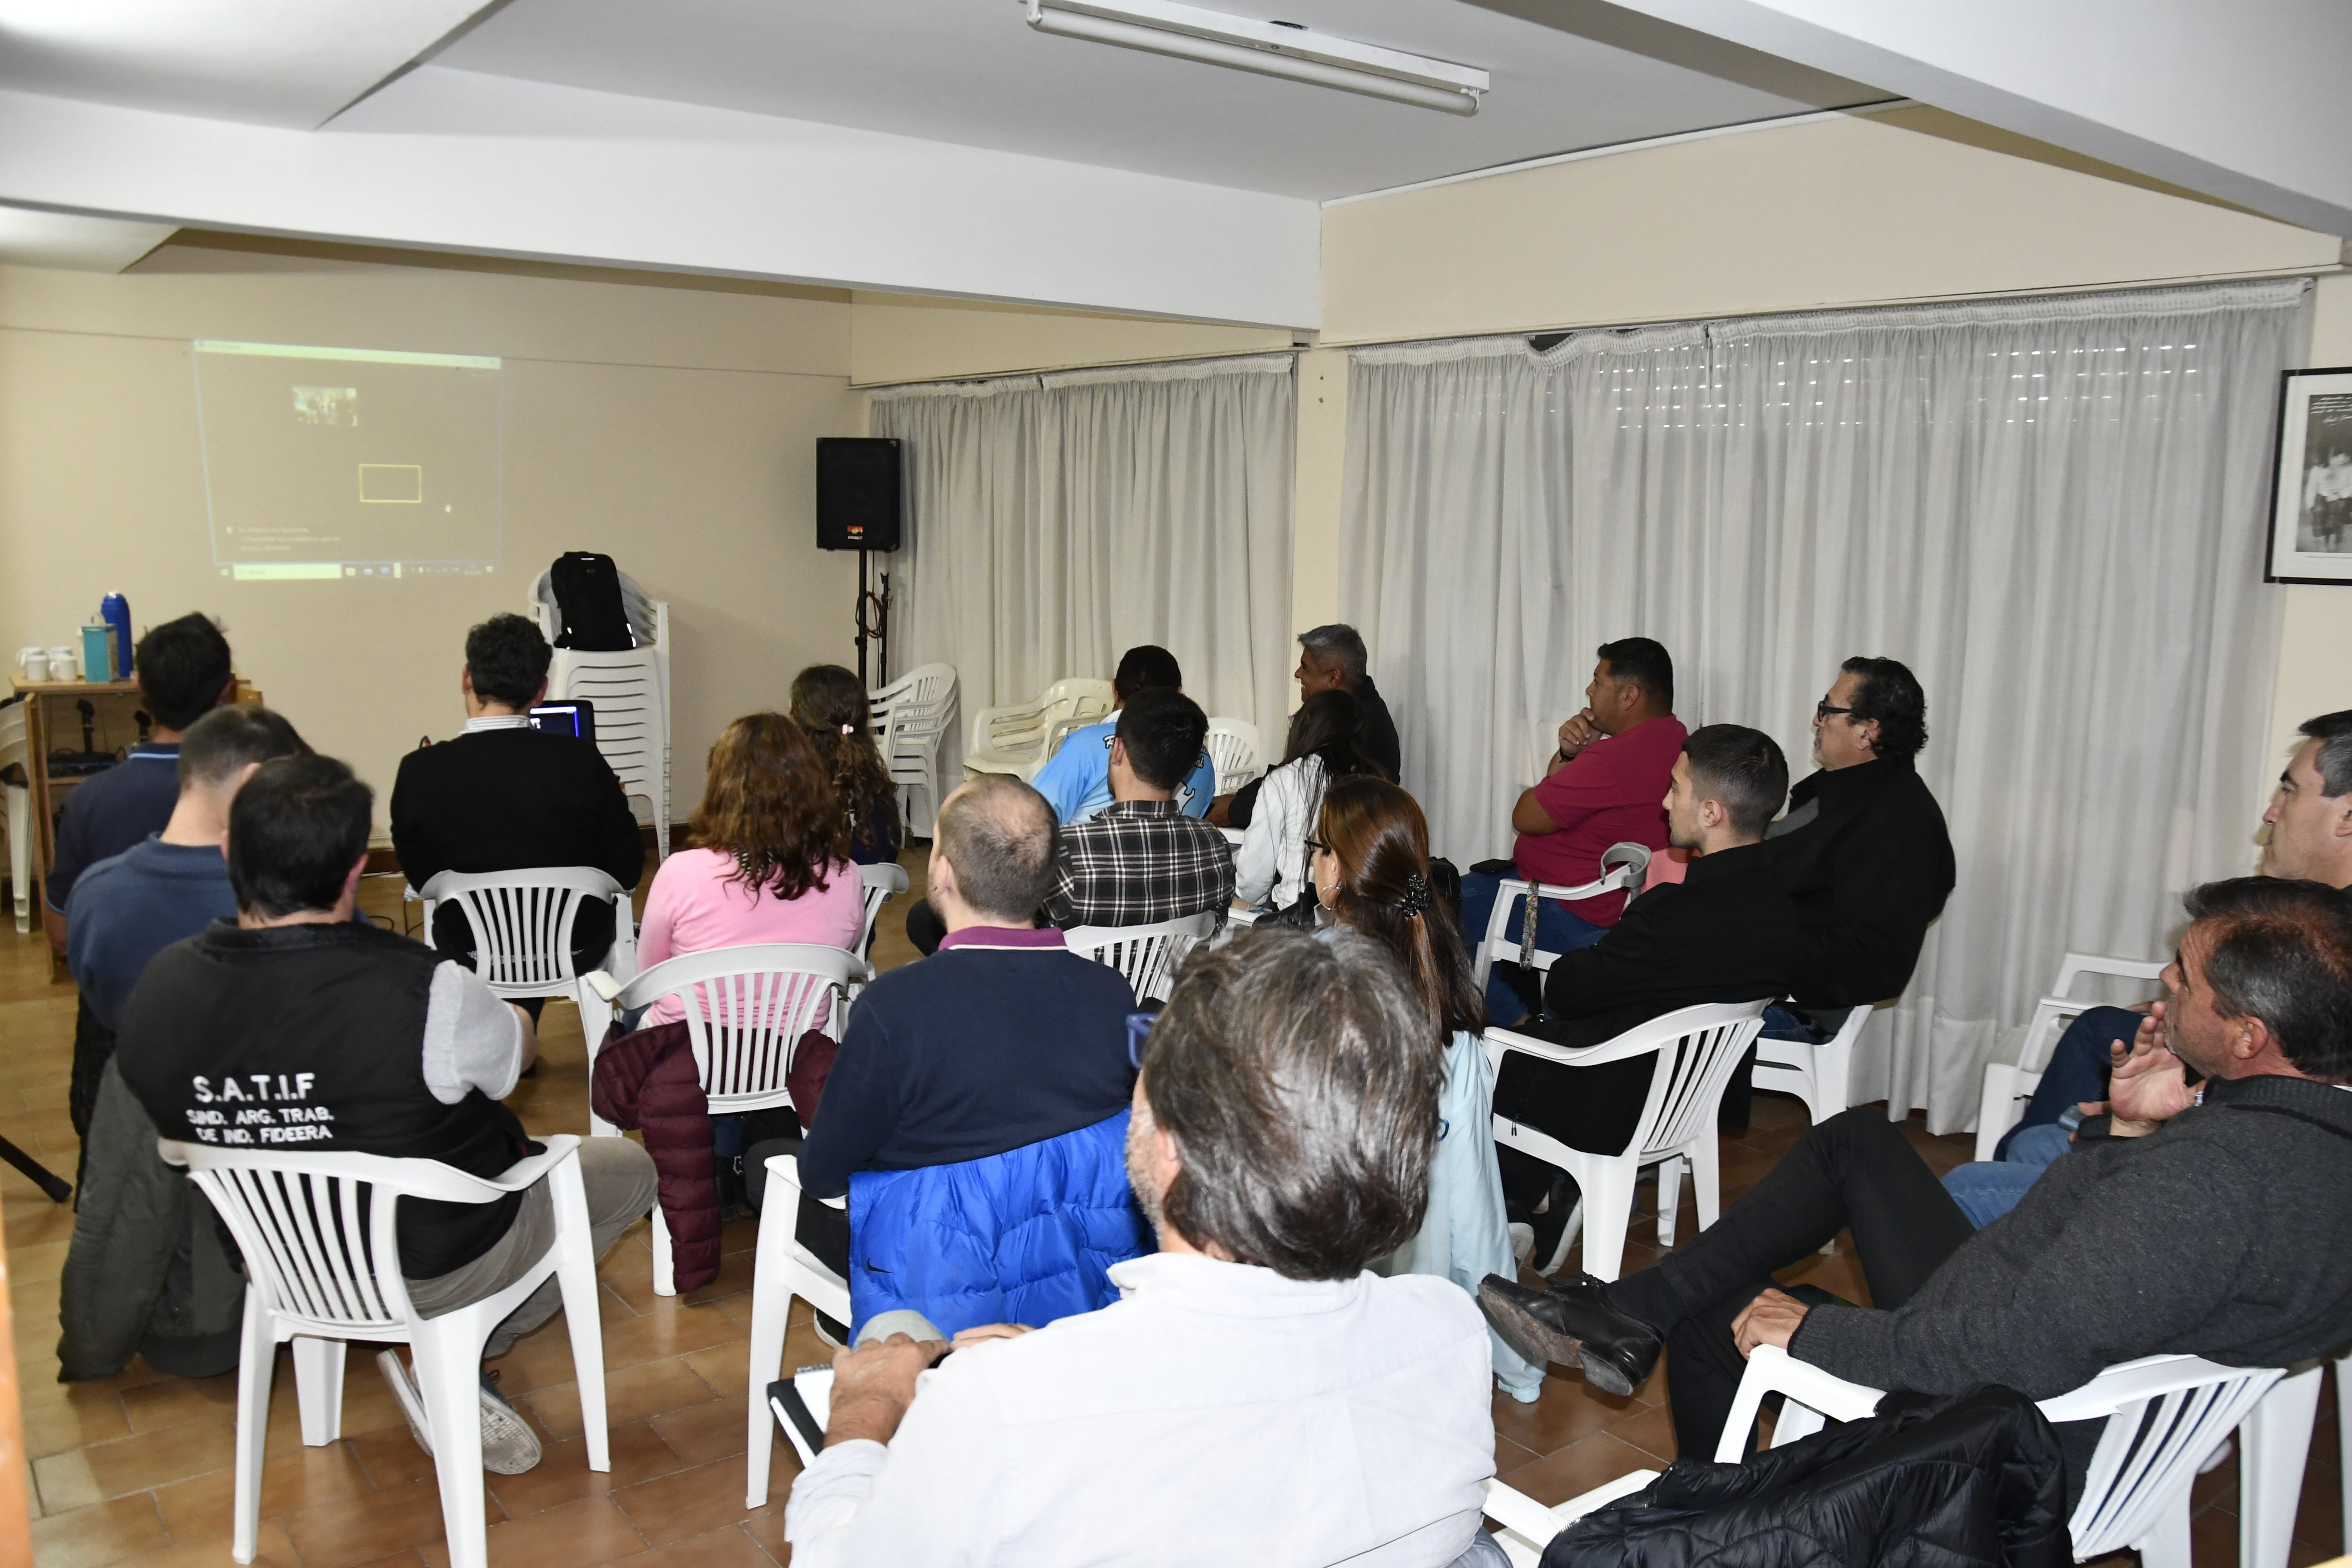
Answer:
<svg viewBox="0 0 2352 1568"><path fill-rule="evenodd" d="M0 92L0 202L1312 327L1315 202L423 66L320 132Z"/></svg>

